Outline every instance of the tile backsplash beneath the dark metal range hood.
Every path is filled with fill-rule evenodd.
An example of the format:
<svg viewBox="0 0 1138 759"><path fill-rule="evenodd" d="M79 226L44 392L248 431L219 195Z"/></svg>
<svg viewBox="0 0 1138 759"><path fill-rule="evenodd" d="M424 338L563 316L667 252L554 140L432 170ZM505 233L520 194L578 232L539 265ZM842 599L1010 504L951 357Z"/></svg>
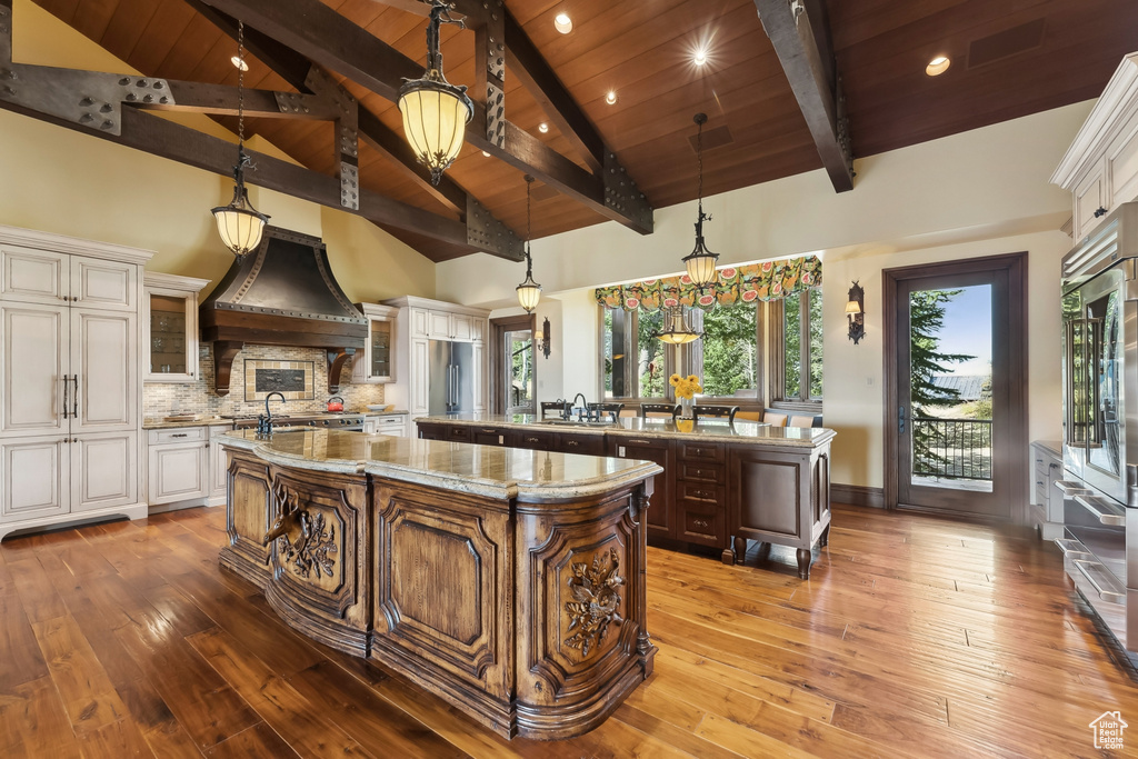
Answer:
<svg viewBox="0 0 1138 759"><path fill-rule="evenodd" d="M315 368L315 399L289 401L283 413L316 413L324 411L325 402L332 395L328 391L328 358L320 348L283 348L272 345L247 345L233 361L230 376L230 394L214 393L213 346L203 344L198 360L197 382L146 382L142 387L142 409L146 416L180 414L257 414L264 411L263 402L245 399L245 360L265 361L311 361ZM362 360L362 355L360 356ZM384 403L382 385L353 385L352 362L340 371L340 390L336 395L344 398L344 410L366 411L368 405ZM274 411L278 402L274 402Z"/></svg>

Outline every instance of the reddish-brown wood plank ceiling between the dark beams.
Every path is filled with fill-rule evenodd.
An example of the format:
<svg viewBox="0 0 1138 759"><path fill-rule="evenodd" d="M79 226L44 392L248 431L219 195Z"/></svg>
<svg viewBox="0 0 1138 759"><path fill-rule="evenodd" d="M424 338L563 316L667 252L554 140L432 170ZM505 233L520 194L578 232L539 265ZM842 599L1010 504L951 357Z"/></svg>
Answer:
<svg viewBox="0 0 1138 759"><path fill-rule="evenodd" d="M379 0L322 1L405 56L426 59L422 16ZM237 84L233 40L183 0L35 2L143 74ZM505 5L653 207L695 197L690 138L699 110L710 117L707 130L726 127L731 138L704 152L706 195L820 166L753 0ZM1138 27L1138 3L1118 0L828 0L826 10L856 157L1096 97L1120 58L1136 47L1132 30ZM572 18L569 34L553 26L561 11ZM473 90L475 34L451 26L442 32L447 79ZM696 48L708 51L702 67L692 63ZM953 65L939 77L926 76L925 64L937 55L950 56ZM247 86L295 91L263 63L250 59L249 65ZM344 84L402 134L395 104L354 82ZM585 166L511 74L509 58L505 85L506 117ZM605 102L610 90L617 93L615 105ZM222 121L236 126L234 119ZM547 133L538 131L543 122L550 124ZM248 129L305 166L335 173L330 123L261 118ZM468 145L448 175L525 234L520 171ZM360 179L364 188L457 218L363 142ZM535 189L535 238L601 221L552 188ZM465 253L390 231L435 259Z"/></svg>

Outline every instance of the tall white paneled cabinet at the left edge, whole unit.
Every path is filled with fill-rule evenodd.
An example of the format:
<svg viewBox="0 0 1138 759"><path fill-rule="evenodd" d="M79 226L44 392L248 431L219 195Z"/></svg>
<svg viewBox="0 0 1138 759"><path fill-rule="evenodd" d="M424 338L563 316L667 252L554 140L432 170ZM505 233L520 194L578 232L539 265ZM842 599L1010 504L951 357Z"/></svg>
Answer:
<svg viewBox="0 0 1138 759"><path fill-rule="evenodd" d="M138 313L150 255L0 226L0 538L146 515Z"/></svg>

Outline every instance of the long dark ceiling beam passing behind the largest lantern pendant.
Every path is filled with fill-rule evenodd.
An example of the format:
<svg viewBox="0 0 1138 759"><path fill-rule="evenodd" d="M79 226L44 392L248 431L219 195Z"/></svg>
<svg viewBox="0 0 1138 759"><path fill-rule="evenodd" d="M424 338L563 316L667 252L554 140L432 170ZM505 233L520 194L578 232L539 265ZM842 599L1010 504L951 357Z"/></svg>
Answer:
<svg viewBox="0 0 1138 759"><path fill-rule="evenodd" d="M388 98L398 98L403 79L417 79L422 66L352 23L319 0L204 0L232 17L240 17L278 42L325 68L337 71ZM486 123L486 107L475 104L475 122ZM608 218L642 233L651 233L652 215L635 182L607 154L603 181L561 156L544 142L509 122L504 147L487 139L484 130L468 130L467 141L512 166L533 174ZM610 171L611 170L611 171Z"/></svg>

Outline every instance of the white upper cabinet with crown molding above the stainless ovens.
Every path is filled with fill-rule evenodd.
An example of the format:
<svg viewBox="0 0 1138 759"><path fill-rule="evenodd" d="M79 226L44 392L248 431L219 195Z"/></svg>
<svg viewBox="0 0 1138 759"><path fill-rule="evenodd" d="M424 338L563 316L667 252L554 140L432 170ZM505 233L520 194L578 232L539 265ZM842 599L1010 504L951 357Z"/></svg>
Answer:
<svg viewBox="0 0 1138 759"><path fill-rule="evenodd" d="M1075 244L1103 216L1138 198L1138 53L1122 59L1052 183L1072 193Z"/></svg>

